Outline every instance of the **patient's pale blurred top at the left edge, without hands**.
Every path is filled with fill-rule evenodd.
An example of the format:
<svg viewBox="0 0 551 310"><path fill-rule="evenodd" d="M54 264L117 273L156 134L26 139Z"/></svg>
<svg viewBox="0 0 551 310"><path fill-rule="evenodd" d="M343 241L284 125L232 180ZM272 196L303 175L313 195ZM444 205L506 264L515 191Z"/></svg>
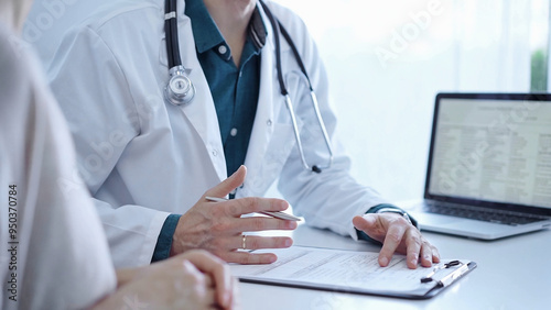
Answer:
<svg viewBox="0 0 551 310"><path fill-rule="evenodd" d="M84 309L115 289L115 269L91 198L76 177L67 125L37 68L0 24L0 305Z"/></svg>

